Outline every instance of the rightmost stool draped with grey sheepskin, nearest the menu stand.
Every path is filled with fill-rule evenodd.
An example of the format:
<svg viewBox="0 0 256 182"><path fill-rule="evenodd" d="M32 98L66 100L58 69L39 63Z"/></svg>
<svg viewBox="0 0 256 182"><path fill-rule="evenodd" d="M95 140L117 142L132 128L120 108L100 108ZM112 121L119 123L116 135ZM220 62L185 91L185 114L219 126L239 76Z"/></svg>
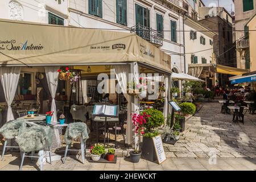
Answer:
<svg viewBox="0 0 256 182"><path fill-rule="evenodd" d="M67 127L67 130L64 135L64 140L66 143L65 155L63 159L63 164L65 163L65 159L67 157L67 153L69 150L69 146L72 144L72 140L76 138L80 138L81 149L80 150L72 150L72 151L81 151L82 155L82 163L84 164L84 156L86 155L86 140L89 138L90 130L85 123L76 122L70 123Z"/></svg>

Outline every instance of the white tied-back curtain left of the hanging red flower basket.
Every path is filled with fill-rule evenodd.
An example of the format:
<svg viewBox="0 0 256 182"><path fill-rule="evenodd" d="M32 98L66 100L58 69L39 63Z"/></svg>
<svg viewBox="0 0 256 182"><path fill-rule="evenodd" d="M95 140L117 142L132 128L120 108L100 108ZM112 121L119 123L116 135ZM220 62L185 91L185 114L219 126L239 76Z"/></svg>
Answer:
<svg viewBox="0 0 256 182"><path fill-rule="evenodd" d="M51 110L54 112L52 121L57 122L55 94L56 94L58 80L59 80L58 69L60 69L60 67L45 67L44 69L46 71L46 79L49 86L49 92L51 93L51 96L52 96Z"/></svg>

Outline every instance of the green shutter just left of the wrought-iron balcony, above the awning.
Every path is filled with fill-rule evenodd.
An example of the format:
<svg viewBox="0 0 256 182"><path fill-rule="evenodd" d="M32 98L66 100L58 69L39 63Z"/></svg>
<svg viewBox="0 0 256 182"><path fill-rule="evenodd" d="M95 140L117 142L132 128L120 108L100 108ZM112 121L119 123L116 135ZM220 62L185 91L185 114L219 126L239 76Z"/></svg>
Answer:
<svg viewBox="0 0 256 182"><path fill-rule="evenodd" d="M127 25L127 0L117 0L117 23Z"/></svg>

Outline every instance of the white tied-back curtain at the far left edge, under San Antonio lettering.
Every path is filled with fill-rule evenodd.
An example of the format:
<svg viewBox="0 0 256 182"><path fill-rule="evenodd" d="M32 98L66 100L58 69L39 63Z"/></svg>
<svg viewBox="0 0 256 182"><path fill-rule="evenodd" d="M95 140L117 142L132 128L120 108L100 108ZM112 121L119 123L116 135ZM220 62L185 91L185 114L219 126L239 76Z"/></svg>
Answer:
<svg viewBox="0 0 256 182"><path fill-rule="evenodd" d="M19 82L20 67L5 67L0 68L1 82L3 86L3 94L8 106L6 122L14 119L13 111L11 110L11 102L13 102L16 89Z"/></svg>

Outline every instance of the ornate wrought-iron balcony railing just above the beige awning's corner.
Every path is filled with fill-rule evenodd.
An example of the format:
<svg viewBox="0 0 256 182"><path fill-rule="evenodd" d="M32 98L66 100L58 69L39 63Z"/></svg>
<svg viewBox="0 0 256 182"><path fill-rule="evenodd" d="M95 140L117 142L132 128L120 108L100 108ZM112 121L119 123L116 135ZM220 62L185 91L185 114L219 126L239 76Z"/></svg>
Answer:
<svg viewBox="0 0 256 182"><path fill-rule="evenodd" d="M131 32L135 32L138 36L156 46L163 46L163 32L142 26L141 24L131 27Z"/></svg>

